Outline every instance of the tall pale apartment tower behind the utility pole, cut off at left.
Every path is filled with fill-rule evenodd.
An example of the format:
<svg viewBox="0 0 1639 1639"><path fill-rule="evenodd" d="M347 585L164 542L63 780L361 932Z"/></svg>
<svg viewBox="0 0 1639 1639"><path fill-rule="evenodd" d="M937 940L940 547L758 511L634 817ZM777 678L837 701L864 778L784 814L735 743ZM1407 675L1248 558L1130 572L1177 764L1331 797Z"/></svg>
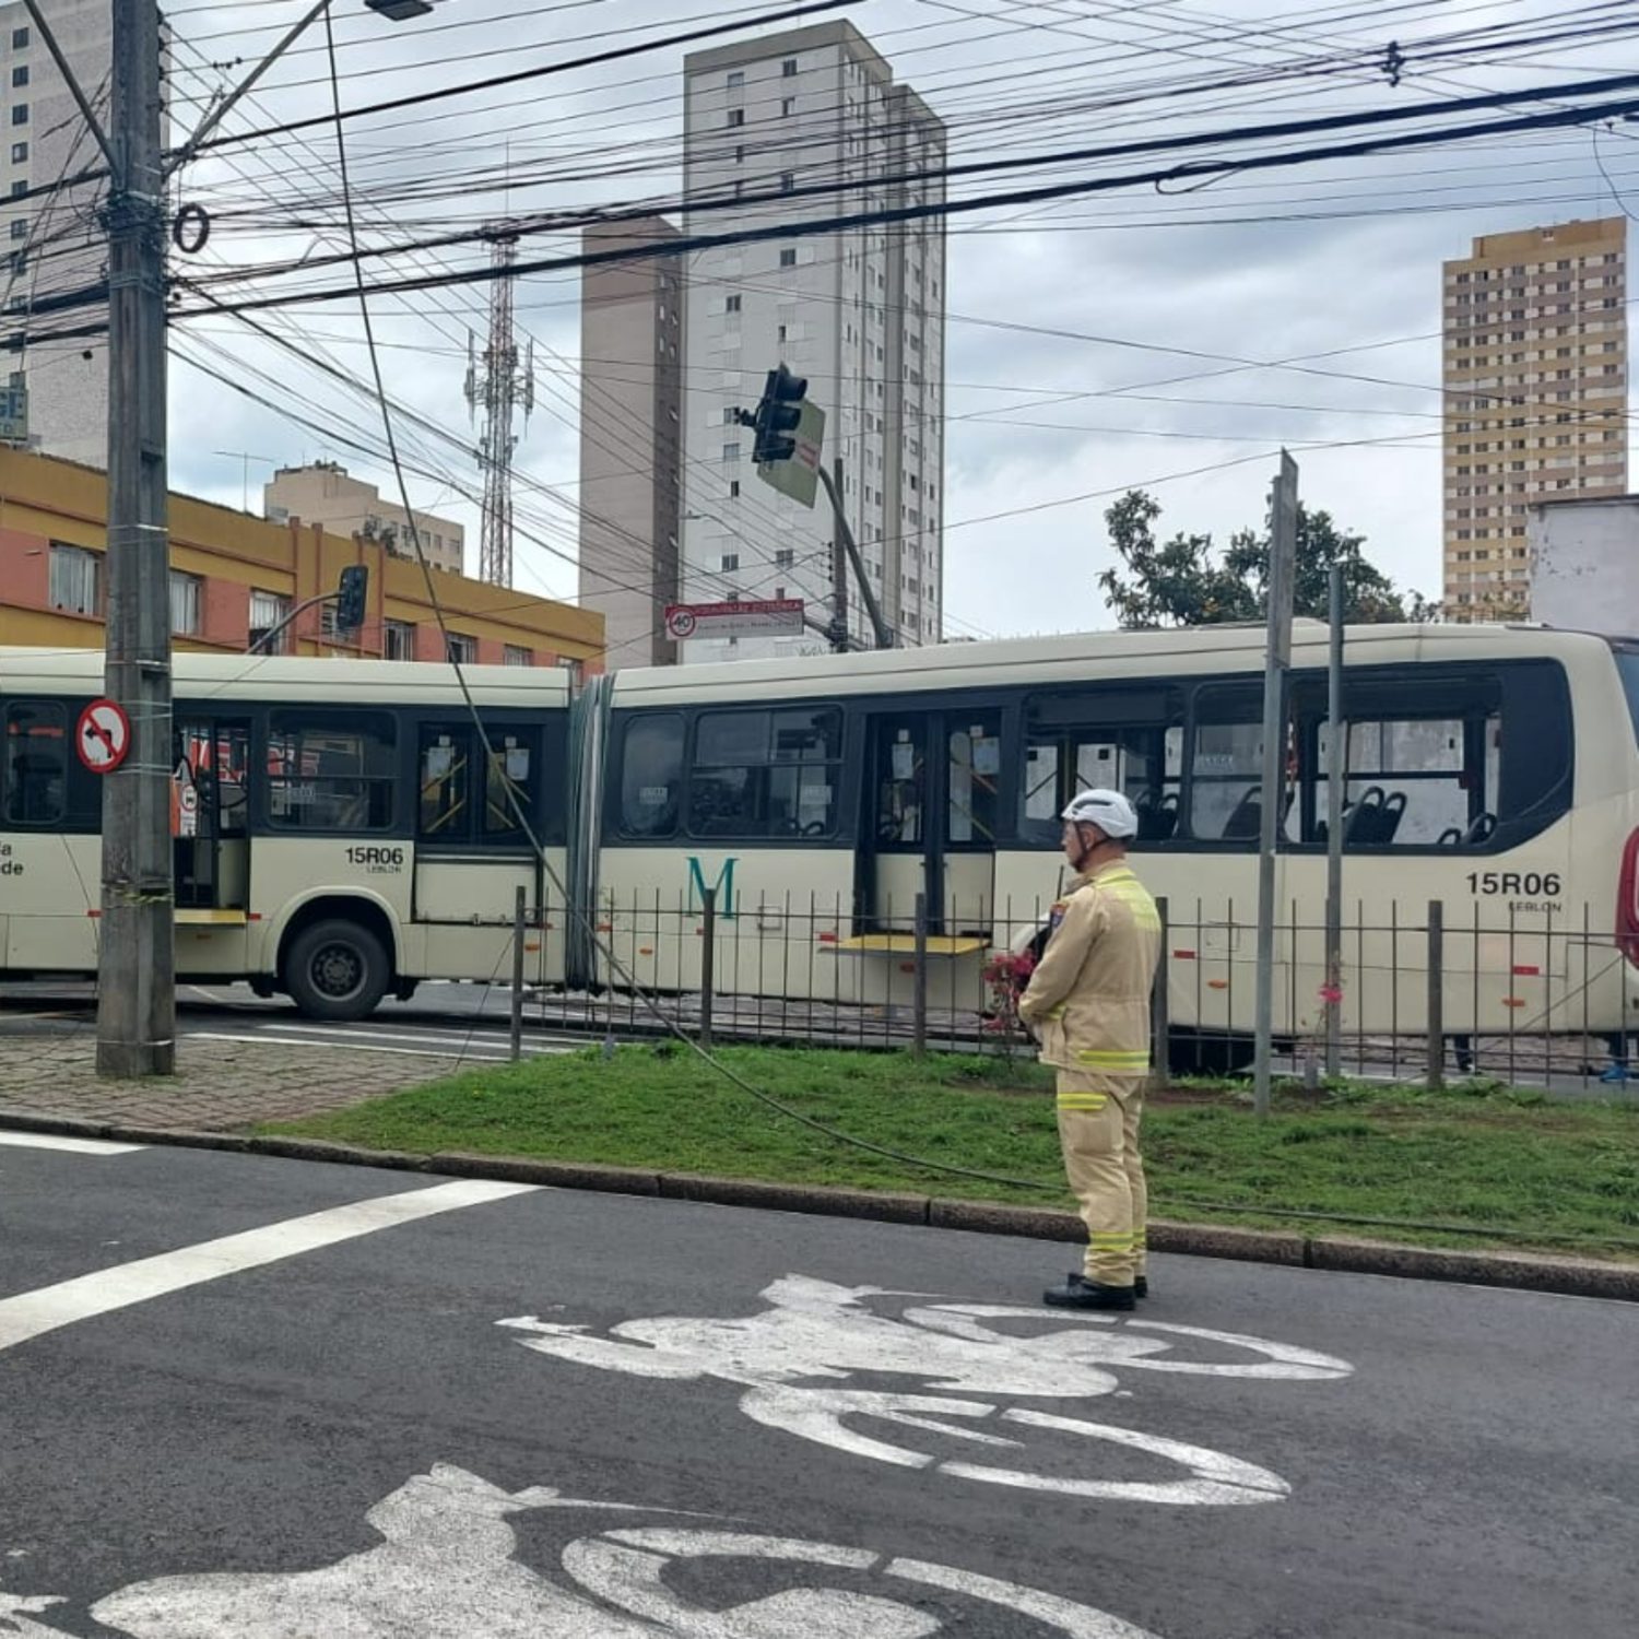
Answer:
<svg viewBox="0 0 1639 1639"><path fill-rule="evenodd" d="M97 113L108 116L113 18L108 0L51 0L51 31ZM107 249L97 226L102 184L67 177L102 169L102 152L80 118L39 30L21 3L0 3L0 313L15 336L18 315L48 293L93 285ZM43 315L51 331L107 320L107 308ZM49 456L108 464L107 336L30 343L3 354L0 372L28 387L30 443Z"/></svg>

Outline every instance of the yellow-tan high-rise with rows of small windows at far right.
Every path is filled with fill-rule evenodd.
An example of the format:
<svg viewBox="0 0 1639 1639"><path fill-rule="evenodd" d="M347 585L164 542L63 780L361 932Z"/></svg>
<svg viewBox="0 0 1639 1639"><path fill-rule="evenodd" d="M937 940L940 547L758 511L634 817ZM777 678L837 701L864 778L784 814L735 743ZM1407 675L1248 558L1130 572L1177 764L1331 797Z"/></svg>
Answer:
<svg viewBox="0 0 1639 1639"><path fill-rule="evenodd" d="M1628 488L1628 221L1487 234L1446 262L1446 610L1523 616L1534 503Z"/></svg>

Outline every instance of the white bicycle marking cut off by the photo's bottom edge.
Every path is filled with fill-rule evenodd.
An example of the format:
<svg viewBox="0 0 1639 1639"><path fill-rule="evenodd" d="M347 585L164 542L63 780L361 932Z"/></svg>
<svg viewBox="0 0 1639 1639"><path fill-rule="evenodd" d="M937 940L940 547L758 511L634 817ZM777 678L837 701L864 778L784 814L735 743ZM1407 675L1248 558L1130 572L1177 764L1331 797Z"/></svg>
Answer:
<svg viewBox="0 0 1639 1639"><path fill-rule="evenodd" d="M526 1511L564 1514L562 1529L575 1532L549 1569L515 1557L510 1518ZM569 1523L577 1511L593 1516L590 1532ZM670 1514L670 1523L608 1523L610 1514L638 1513ZM677 1518L551 1487L506 1493L439 1464L365 1514L384 1539L377 1547L318 1570L138 1582L97 1600L90 1616L126 1639L933 1639L983 1632L985 1611L1001 1609L1044 1636L1157 1639L1088 1605L954 1565ZM759 1591L703 1605L687 1578L701 1562L711 1565L713 1590L733 1585L742 1562L747 1587ZM770 1593L770 1578L790 1585ZM64 1605L0 1590L0 1631L62 1639L52 1613Z"/></svg>

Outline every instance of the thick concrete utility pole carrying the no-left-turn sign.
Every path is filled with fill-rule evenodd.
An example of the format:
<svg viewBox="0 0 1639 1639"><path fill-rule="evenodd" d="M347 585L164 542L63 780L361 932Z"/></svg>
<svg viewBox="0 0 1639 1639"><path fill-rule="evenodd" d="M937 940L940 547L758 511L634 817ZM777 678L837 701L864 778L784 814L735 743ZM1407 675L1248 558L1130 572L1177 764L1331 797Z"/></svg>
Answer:
<svg viewBox="0 0 1639 1639"><path fill-rule="evenodd" d="M97 1070L115 1077L175 1065L161 118L159 8L113 0L103 687L131 754L103 785Z"/></svg>

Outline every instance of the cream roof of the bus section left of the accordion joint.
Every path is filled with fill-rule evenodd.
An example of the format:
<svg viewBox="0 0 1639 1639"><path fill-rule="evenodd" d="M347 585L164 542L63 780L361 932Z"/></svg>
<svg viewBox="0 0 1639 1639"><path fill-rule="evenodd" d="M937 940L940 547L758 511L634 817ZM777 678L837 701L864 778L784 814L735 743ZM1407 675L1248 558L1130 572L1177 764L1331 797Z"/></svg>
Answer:
<svg viewBox="0 0 1639 1639"><path fill-rule="evenodd" d="M328 661L282 654L174 654L182 700L267 700L303 705L464 706L456 667L428 661ZM485 706L562 708L569 674L559 667L464 665L472 698ZM0 647L0 695L100 695L102 649Z"/></svg>

